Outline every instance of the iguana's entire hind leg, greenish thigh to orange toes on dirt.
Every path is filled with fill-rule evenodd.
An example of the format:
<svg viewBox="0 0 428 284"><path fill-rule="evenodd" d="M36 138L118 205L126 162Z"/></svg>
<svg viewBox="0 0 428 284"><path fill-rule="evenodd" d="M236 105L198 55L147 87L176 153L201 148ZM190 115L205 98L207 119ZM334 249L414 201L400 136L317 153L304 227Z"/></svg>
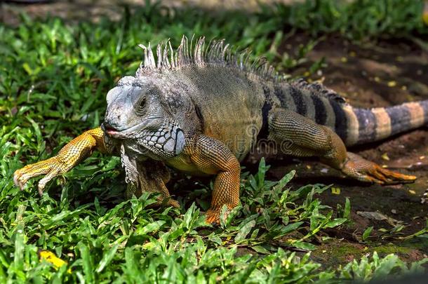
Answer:
<svg viewBox="0 0 428 284"><path fill-rule="evenodd" d="M413 182L416 179L413 175L386 170L361 156L347 152L345 144L333 130L294 111L281 109L270 114L269 139L274 140L286 154L317 156L323 163L340 170L347 177L362 182L395 184Z"/></svg>

